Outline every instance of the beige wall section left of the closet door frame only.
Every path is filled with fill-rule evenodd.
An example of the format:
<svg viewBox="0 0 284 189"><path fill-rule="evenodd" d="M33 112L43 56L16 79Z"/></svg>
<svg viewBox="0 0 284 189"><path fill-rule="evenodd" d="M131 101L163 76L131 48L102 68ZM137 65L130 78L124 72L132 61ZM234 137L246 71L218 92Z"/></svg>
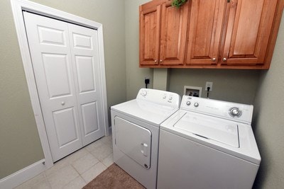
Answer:
<svg viewBox="0 0 284 189"><path fill-rule="evenodd" d="M43 159L9 0L0 3L0 179Z"/></svg>

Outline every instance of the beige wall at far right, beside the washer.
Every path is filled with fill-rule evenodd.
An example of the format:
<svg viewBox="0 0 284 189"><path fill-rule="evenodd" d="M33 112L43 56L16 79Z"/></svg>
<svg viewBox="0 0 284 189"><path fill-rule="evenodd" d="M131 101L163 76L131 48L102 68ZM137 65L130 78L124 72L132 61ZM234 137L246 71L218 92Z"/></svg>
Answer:
<svg viewBox="0 0 284 189"><path fill-rule="evenodd" d="M261 153L254 188L284 185L284 15L275 45L271 69L263 71L253 118L253 130Z"/></svg>

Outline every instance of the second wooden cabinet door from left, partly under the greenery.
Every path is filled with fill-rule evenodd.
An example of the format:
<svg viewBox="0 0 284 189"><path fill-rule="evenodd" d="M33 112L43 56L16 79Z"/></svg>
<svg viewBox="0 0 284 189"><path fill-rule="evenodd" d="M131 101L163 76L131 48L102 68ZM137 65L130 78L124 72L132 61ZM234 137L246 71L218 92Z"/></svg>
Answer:
<svg viewBox="0 0 284 189"><path fill-rule="evenodd" d="M188 2L180 8L171 6L170 1L162 5L159 60L161 65L183 64L187 15Z"/></svg>

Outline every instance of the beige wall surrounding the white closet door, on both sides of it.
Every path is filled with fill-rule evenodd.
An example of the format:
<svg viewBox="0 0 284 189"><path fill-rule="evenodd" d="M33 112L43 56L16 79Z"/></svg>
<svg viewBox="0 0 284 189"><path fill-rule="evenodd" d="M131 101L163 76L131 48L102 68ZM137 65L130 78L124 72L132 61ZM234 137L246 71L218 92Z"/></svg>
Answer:
<svg viewBox="0 0 284 189"><path fill-rule="evenodd" d="M33 0L103 24L108 105L126 100L124 0ZM0 179L43 159L9 0L0 1Z"/></svg>

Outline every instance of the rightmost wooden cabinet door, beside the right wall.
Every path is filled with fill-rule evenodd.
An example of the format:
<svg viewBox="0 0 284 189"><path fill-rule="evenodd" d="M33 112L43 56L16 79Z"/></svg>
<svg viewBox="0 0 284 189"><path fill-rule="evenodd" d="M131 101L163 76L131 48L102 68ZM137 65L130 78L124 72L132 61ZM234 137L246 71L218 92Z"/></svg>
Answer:
<svg viewBox="0 0 284 189"><path fill-rule="evenodd" d="M276 0L231 0L222 64L263 64Z"/></svg>

